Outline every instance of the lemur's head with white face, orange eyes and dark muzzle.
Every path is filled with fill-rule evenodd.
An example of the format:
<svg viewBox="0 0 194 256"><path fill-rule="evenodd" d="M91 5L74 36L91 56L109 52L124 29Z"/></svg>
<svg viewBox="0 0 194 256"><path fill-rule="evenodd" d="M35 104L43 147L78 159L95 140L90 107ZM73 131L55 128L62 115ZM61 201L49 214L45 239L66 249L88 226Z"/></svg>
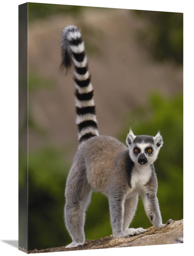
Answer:
<svg viewBox="0 0 194 256"><path fill-rule="evenodd" d="M163 140L159 132L155 137L148 135L135 136L130 130L126 138L126 144L129 147L132 161L135 164L144 165L152 164L157 159Z"/></svg>

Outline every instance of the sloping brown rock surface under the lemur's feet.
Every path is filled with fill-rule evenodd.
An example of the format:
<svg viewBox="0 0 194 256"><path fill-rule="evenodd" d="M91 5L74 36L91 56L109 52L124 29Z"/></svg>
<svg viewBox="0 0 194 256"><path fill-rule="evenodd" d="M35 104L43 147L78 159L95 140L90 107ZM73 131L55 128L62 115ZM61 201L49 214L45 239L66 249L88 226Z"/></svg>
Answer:
<svg viewBox="0 0 194 256"><path fill-rule="evenodd" d="M131 247L142 245L158 245L158 244L177 244L183 243L183 219L180 221L171 222L168 226L162 228L150 227L147 231L140 235L135 235L130 238L113 238L113 235L109 237L100 238L97 240L86 240L83 246L65 248L55 247L42 250L32 250L28 253L41 253L41 252L61 252L61 251L79 251L79 250L91 250L102 248L118 248L118 247ZM19 248L23 251L23 249Z"/></svg>

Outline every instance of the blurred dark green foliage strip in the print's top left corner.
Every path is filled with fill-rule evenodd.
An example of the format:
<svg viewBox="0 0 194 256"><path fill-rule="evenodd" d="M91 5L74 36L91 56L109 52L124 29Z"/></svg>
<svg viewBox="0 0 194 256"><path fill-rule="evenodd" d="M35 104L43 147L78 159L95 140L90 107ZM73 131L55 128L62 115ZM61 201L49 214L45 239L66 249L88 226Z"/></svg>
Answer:
<svg viewBox="0 0 194 256"><path fill-rule="evenodd" d="M82 8L82 6L76 5L28 3L28 21L48 18L54 14L72 13L75 16L80 13Z"/></svg>

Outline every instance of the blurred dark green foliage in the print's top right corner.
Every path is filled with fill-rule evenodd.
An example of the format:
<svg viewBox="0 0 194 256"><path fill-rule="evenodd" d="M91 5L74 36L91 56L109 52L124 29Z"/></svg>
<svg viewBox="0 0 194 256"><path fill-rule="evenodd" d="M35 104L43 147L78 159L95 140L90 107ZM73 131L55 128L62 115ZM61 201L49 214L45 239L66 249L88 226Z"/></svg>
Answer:
<svg viewBox="0 0 194 256"><path fill-rule="evenodd" d="M183 13L134 10L145 21L138 40L155 60L183 64Z"/></svg>

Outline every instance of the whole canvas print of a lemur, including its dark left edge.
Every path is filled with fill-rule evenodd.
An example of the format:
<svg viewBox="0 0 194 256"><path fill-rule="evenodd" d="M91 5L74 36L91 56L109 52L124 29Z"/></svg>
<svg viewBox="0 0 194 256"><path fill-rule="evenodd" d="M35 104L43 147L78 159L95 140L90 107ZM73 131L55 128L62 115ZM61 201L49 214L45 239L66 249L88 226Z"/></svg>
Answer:
<svg viewBox="0 0 194 256"><path fill-rule="evenodd" d="M19 5L19 249L182 242L183 13Z"/></svg>

